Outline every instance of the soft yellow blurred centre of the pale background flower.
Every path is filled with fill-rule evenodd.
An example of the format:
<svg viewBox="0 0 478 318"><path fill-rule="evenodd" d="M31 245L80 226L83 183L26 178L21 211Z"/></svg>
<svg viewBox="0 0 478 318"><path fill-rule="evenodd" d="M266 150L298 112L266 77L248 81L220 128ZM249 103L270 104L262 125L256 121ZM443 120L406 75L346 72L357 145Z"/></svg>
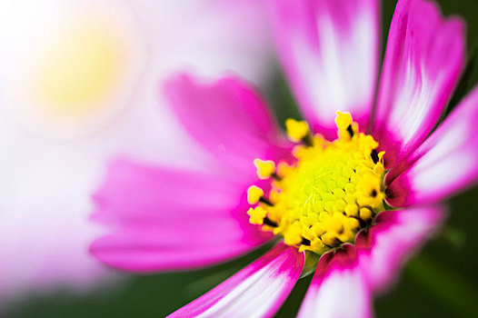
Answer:
<svg viewBox="0 0 478 318"><path fill-rule="evenodd" d="M79 25L40 56L37 88L55 114L84 114L102 105L120 75L124 49L101 25Z"/></svg>

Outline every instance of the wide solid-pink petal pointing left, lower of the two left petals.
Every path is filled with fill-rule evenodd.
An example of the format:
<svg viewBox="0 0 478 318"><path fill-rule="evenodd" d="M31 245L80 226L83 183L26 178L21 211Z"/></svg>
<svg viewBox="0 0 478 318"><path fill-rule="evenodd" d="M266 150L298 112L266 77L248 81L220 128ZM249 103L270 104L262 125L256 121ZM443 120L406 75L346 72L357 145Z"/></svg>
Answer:
<svg viewBox="0 0 478 318"><path fill-rule="evenodd" d="M247 220L245 187L221 175L174 171L118 160L95 194L96 221L111 233L91 252L109 265L139 272L225 261L270 235Z"/></svg>

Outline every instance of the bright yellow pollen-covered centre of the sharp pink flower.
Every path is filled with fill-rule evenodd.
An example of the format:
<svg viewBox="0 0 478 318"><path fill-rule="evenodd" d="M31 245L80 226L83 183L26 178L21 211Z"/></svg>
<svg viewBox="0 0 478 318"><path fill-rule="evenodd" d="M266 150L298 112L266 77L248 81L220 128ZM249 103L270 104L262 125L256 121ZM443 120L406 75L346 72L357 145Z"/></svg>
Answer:
<svg viewBox="0 0 478 318"><path fill-rule="evenodd" d="M247 192L251 224L284 237L299 251L323 254L355 235L383 211L383 152L368 134L359 133L351 114L337 112L333 142L312 135L309 125L288 119L287 134L296 142L293 164L255 159L256 185Z"/></svg>

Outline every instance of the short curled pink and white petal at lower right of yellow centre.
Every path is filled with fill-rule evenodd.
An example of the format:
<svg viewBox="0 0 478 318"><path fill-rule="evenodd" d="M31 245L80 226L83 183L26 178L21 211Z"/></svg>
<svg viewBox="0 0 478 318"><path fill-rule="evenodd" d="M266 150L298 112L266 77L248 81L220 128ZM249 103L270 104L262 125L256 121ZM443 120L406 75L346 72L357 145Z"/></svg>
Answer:
<svg viewBox="0 0 478 318"><path fill-rule="evenodd" d="M403 263L434 234L444 216L443 207L386 211L367 234L357 235L357 266L372 291L393 283Z"/></svg>

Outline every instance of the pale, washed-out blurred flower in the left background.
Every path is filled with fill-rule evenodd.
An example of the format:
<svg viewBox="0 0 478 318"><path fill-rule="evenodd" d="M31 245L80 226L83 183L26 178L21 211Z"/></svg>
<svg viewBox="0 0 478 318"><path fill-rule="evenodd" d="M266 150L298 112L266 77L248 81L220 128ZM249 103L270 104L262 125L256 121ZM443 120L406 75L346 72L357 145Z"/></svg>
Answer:
<svg viewBox="0 0 478 318"><path fill-rule="evenodd" d="M184 64L202 75L235 65L254 83L264 82L272 50L254 23L264 10L254 1L234 11L230 5L0 4L0 304L25 292L85 291L109 281L111 271L88 253L100 234L87 221L90 194L112 155L165 160L155 146L173 148L174 138L161 135L174 127L156 124L167 116L157 107L158 77ZM174 151L170 158L185 157L179 147Z"/></svg>

